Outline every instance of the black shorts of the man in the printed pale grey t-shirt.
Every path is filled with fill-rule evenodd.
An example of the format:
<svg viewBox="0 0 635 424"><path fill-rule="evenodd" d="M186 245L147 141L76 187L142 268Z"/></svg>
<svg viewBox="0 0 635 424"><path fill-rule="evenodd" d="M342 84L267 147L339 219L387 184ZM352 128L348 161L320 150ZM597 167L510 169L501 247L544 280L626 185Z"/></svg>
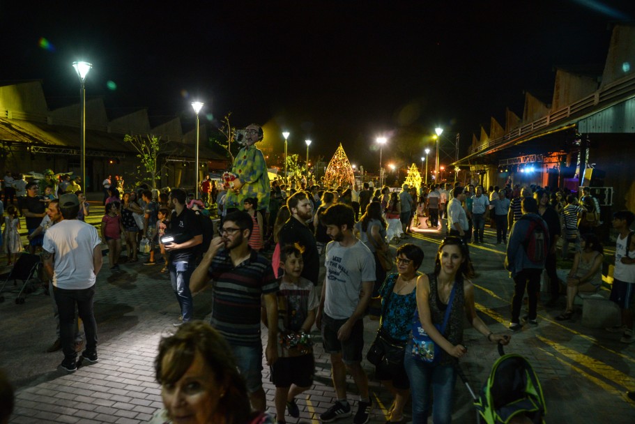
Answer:
<svg viewBox="0 0 635 424"><path fill-rule="evenodd" d="M362 349L364 348L364 323L358 319L353 325L351 335L343 342L337 340L337 331L347 319L334 319L324 314L322 318L322 344L327 354L342 354L345 364L362 361Z"/></svg>

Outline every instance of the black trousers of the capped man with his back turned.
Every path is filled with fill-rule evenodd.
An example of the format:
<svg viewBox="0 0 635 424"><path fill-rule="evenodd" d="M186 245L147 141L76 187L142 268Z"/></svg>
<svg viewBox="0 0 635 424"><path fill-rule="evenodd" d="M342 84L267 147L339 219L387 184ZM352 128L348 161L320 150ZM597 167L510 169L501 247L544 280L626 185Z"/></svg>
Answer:
<svg viewBox="0 0 635 424"><path fill-rule="evenodd" d="M97 351L97 323L93 313L95 285L81 290L54 287L53 294L55 303L57 303L57 310L59 311L59 338L64 357L73 360L77 358L77 352L75 351L75 335L77 333L75 305L77 305L79 317L84 322L86 351L89 353Z"/></svg>

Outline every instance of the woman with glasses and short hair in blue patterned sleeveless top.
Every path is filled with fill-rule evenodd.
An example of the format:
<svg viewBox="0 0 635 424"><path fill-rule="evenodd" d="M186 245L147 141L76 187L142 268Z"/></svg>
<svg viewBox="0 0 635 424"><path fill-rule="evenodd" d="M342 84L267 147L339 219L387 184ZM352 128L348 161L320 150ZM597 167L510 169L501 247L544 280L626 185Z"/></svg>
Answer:
<svg viewBox="0 0 635 424"><path fill-rule="evenodd" d="M390 344L405 347L417 308L415 287L418 268L423 261L423 250L413 244L404 244L397 249L398 273L388 275L379 289L381 296L381 321L379 332ZM402 353L403 355L403 353ZM399 370L388 370L380 363L375 376L395 395L388 411L388 423L404 421L404 406L410 396L410 382L401 361Z"/></svg>

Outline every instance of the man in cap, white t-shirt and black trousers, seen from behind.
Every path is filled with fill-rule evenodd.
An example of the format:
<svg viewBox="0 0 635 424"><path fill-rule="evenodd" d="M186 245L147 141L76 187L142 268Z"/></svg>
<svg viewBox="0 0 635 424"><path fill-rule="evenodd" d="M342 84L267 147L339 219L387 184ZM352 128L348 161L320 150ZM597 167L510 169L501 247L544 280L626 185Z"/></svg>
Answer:
<svg viewBox="0 0 635 424"><path fill-rule="evenodd" d="M60 340L64 353L60 368L75 372L76 307L84 322L86 335L86 350L82 352L82 357L87 363L99 361L93 297L95 280L102 267L101 241L93 225L77 220L77 195L61 195L59 209L64 219L49 228L44 236L43 264L53 280L53 296L59 310Z"/></svg>

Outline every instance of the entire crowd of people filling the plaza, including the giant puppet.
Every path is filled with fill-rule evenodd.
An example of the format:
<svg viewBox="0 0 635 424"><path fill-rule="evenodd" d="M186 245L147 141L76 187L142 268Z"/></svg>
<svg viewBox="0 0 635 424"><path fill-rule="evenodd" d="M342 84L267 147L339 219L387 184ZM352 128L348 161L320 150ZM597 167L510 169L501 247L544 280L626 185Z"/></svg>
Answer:
<svg viewBox="0 0 635 424"><path fill-rule="evenodd" d="M180 188L121 192L107 179L100 232L82 222L90 209L81 191L65 188L59 195L59 185L53 185L59 197L47 197L38 194L38 183L25 184L20 209L7 207L3 241L10 244L11 255L20 249L13 237L21 212L32 251L43 250L59 322L49 351L63 350L63 370L77 370L77 355L84 347L82 358L98 361L93 296L102 243L108 245L112 273L120 271L123 261L138 262L139 253L148 253L145 265L162 261L160 272L169 273L181 309L174 321L176 333L161 340L155 361L165 405L155 423L185 418L197 423L285 423L287 414L298 418L296 398L313 385L314 326L330 358L337 398L321 421L353 415L346 391L350 374L359 395L353 423L367 423L374 405L362 368L362 319L373 298L380 299L380 324L371 347L376 357L371 359L370 352L367 357L376 366L374 377L394 397L388 422L404 422L411 400L414 423L425 423L428 416L435 423L449 423L454 365L467 354L464 317L492 345L511 340L490 331L475 309L469 245L489 243L484 234L488 221L496 227L496 243L506 245L505 267L514 280L510 331L521 328L525 292L529 300L523 322L537 325L536 295L544 269L551 280L550 301L556 304L560 237L564 257L573 245L574 262L565 282L567 306L557 319L573 315L577 292L599 287L603 249L593 232L601 221L597 199L588 192L578 199L566 192L509 185L486 192L479 185L433 183L418 190L403 184L399 192L391 192L374 181L336 188L306 179L286 184L268 180L263 155L254 146L261 139L259 126L247 127L231 168L236 178L217 185L206 177L199 188L202 202ZM212 204L220 216L216 233L205 207ZM611 300L620 305L622 324L611 331L621 332L627 343L634 340L635 240L629 231L634 219L633 213L620 211L612 220L619 236ZM418 271L422 249L401 243L415 228L447 233L428 274ZM72 243L83 248L70 248ZM397 245L397 254L386 261L390 243ZM77 270L77 263L86 266ZM207 287L213 291L208 324L195 319L192 300L193 293ZM261 324L268 328L264 350ZM275 419L265 413L263 354L276 387Z"/></svg>

